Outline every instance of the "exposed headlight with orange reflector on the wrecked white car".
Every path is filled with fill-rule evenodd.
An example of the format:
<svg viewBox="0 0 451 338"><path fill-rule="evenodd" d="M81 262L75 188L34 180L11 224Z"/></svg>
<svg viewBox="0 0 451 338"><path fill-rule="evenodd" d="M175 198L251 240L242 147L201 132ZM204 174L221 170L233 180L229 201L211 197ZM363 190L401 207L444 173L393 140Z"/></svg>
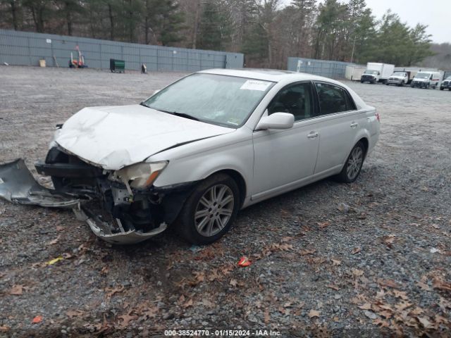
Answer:
<svg viewBox="0 0 451 338"><path fill-rule="evenodd" d="M166 165L168 165L168 161L138 163L116 171L112 178L130 184L132 188L143 189L154 183Z"/></svg>

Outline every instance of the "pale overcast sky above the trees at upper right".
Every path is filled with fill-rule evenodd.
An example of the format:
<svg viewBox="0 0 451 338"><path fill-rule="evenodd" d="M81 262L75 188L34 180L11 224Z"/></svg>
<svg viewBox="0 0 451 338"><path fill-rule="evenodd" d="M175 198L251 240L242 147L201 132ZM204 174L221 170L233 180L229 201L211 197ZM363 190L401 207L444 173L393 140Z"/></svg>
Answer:
<svg viewBox="0 0 451 338"><path fill-rule="evenodd" d="M342 0L342 2L345 0ZM290 0L281 0L281 4L290 4ZM366 0L376 18L389 8L400 15L402 22L413 27L417 23L428 25L427 32L432 41L451 43L451 0Z"/></svg>

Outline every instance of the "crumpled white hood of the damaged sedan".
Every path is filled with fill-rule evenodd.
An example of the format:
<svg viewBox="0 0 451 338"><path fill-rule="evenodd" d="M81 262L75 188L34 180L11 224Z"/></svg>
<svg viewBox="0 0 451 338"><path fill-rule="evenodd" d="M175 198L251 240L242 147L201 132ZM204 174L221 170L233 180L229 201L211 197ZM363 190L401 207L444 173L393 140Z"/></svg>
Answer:
<svg viewBox="0 0 451 338"><path fill-rule="evenodd" d="M106 106L83 108L55 141L85 161L118 170L177 144L233 131L140 105Z"/></svg>

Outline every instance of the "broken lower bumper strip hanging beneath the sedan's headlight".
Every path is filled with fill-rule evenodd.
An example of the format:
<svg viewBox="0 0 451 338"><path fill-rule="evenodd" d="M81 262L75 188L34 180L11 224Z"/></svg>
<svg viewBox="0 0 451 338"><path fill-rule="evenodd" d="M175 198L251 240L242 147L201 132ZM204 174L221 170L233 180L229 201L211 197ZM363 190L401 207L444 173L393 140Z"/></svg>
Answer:
<svg viewBox="0 0 451 338"><path fill-rule="evenodd" d="M167 227L166 223L161 223L159 227L156 227L149 232L142 232L135 229L125 230L122 221L119 218L106 222L101 220L99 215L90 211L86 206L78 204L78 206L73 209L73 212L78 220L85 221L89 225L92 232L94 232L97 237L111 244L140 243L163 232Z"/></svg>

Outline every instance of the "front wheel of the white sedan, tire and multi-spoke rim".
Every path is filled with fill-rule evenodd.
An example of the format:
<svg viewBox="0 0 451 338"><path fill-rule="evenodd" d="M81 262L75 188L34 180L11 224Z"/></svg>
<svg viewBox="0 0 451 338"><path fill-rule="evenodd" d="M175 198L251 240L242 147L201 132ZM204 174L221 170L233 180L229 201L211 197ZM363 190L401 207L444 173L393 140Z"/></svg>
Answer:
<svg viewBox="0 0 451 338"><path fill-rule="evenodd" d="M229 175L211 175L185 201L178 232L192 244L209 244L223 237L240 208L240 190Z"/></svg>

